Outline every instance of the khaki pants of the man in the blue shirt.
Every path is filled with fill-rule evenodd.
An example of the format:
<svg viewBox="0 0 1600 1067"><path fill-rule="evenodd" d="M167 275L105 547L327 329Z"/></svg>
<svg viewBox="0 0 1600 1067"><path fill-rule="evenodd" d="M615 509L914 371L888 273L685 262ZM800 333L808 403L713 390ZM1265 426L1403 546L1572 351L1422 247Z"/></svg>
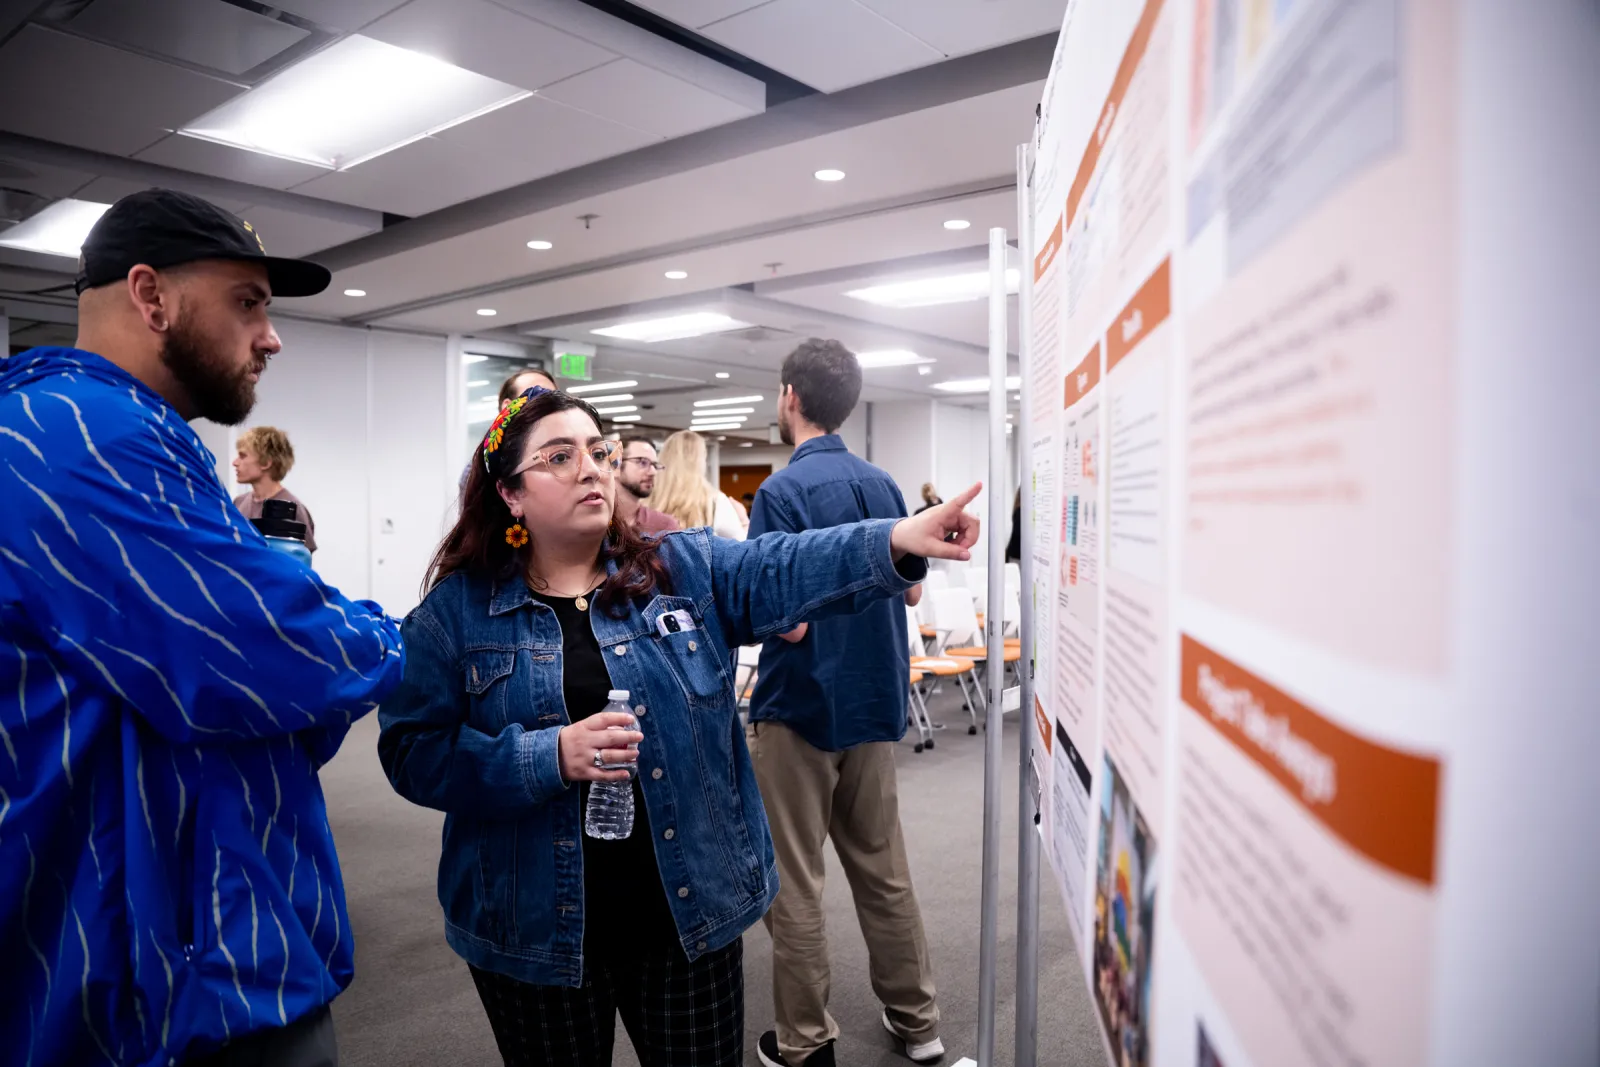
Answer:
<svg viewBox="0 0 1600 1067"><path fill-rule="evenodd" d="M894 747L875 742L822 752L771 721L752 723L747 739L782 880L766 913L778 1049L790 1064L800 1064L838 1038L838 1024L827 1011L822 928L822 843L829 837L850 880L867 942L872 992L901 1033L931 1040L939 1029L939 1008L922 910L906 862Z"/></svg>

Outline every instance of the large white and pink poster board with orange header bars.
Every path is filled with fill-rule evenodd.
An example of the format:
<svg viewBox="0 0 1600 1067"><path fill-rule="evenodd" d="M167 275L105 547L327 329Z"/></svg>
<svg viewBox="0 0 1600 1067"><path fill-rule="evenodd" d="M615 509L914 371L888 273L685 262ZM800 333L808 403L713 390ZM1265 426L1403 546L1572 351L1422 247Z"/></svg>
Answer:
<svg viewBox="0 0 1600 1067"><path fill-rule="evenodd" d="M1589 14L1539 93L1600 99ZM1536 939L1566 953L1563 1003L1587 1030L1552 1009L1526 1057L1478 1059L1514 1038L1470 1009L1514 987L1477 939L1531 955L1488 923L1523 921L1506 913L1528 893L1499 853L1512 827L1576 833L1600 869L1578 811L1506 798L1520 817L1483 819L1539 789L1502 753L1571 761L1566 745L1600 741L1576 715L1594 688L1562 681L1594 677L1582 643L1530 635L1560 582L1526 584L1565 566L1600 592L1595 565L1494 542L1483 520L1512 453L1595 445L1592 421L1531 414L1571 374L1522 384L1525 349L1488 344L1518 314L1526 328L1538 291L1486 251L1512 235L1482 208L1538 165L1507 162L1485 130L1512 120L1470 106L1504 77L1496 45L1560 40L1509 8L1427 0L1067 5L1021 189L1029 736L1046 881L1115 1067L1600 1062L1600 953L1557 931ZM1541 122L1568 157L1600 157L1592 128ZM1586 203L1581 173L1549 178L1558 202ZM1579 262L1536 270L1555 290ZM1504 306L1482 299L1496 286ZM1592 357L1592 325L1544 312L1539 330ZM1579 347L1526 358L1568 371ZM1483 418L1506 389L1528 402L1499 408L1515 443ZM1509 491L1520 507L1542 507L1534 483L1587 493L1534 466ZM1600 536L1600 509L1533 512L1490 526ZM1579 622L1600 640L1592 611ZM1515 699L1530 688L1549 701ZM1592 800L1592 777L1558 789ZM1538 893L1600 944L1600 907ZM1062 993L1038 995L1043 1014Z"/></svg>

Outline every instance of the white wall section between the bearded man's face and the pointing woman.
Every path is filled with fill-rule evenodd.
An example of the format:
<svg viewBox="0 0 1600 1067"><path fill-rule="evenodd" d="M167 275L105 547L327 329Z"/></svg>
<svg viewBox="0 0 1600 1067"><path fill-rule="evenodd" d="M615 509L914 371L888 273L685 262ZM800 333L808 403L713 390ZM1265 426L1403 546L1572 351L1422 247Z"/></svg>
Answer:
<svg viewBox="0 0 1600 1067"><path fill-rule="evenodd" d="M347 597L403 614L454 504L450 344L290 318L275 325L283 352L238 429L290 435L294 470L285 485L317 520L317 573Z"/></svg>

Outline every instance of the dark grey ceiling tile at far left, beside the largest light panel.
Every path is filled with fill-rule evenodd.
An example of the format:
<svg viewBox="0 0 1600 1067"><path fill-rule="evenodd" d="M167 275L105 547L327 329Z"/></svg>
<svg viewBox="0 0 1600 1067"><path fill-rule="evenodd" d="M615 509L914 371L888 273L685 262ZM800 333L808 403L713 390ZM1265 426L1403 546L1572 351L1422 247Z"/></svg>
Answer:
<svg viewBox="0 0 1600 1067"><path fill-rule="evenodd" d="M40 26L0 48L0 128L131 155L238 86Z"/></svg>

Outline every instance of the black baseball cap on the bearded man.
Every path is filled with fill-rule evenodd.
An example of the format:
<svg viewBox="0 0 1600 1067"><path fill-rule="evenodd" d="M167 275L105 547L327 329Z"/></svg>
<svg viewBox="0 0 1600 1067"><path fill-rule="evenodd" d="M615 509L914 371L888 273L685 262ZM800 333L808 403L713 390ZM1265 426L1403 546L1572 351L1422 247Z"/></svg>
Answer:
<svg viewBox="0 0 1600 1067"><path fill-rule="evenodd" d="M269 256L250 222L214 203L146 189L110 205L90 230L78 254L77 291L120 282L141 262L162 269L200 259L259 262L274 296L315 296L333 280L322 264Z"/></svg>

